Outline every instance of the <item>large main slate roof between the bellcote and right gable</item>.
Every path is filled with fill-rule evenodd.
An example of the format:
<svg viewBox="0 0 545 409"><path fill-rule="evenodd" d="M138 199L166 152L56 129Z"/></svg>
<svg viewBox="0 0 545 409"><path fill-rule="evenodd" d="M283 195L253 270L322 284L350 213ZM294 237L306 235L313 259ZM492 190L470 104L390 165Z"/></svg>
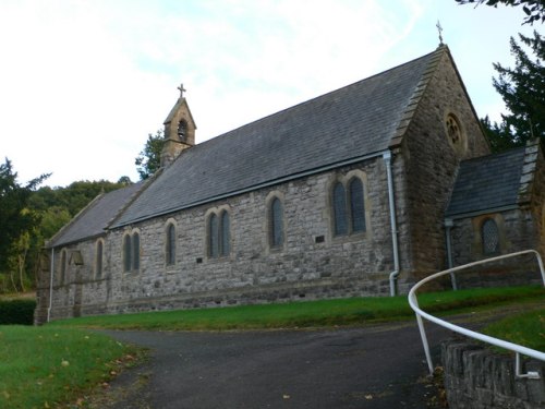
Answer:
<svg viewBox="0 0 545 409"><path fill-rule="evenodd" d="M361 160L387 149L426 69L445 49L182 152L112 227Z"/></svg>

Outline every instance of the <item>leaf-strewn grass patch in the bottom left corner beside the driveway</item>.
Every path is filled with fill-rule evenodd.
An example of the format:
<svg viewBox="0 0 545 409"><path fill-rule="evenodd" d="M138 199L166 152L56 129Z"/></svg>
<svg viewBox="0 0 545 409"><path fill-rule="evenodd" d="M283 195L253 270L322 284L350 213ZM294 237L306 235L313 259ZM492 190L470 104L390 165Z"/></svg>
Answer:
<svg viewBox="0 0 545 409"><path fill-rule="evenodd" d="M82 402L136 356L135 348L81 329L0 326L0 408Z"/></svg>

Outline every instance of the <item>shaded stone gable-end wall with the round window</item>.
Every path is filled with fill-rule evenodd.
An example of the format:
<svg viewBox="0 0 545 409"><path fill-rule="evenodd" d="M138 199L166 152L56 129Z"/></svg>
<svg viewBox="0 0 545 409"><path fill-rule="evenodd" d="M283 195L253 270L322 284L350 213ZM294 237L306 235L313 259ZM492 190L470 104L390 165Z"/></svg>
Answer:
<svg viewBox="0 0 545 409"><path fill-rule="evenodd" d="M455 115L463 140L456 148L446 120ZM446 267L445 208L462 159L486 155L489 147L453 62L444 53L403 137L412 258L419 277Z"/></svg>

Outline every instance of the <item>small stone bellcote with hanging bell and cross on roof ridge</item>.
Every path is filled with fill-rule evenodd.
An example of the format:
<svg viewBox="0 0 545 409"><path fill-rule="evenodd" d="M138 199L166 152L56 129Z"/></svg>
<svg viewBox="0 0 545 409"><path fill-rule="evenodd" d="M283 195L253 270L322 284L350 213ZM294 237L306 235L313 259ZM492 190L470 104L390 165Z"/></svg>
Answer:
<svg viewBox="0 0 545 409"><path fill-rule="evenodd" d="M195 121L183 93L183 84L178 87L180 97L165 120L165 146L161 152L161 167L169 165L182 151L195 145Z"/></svg>

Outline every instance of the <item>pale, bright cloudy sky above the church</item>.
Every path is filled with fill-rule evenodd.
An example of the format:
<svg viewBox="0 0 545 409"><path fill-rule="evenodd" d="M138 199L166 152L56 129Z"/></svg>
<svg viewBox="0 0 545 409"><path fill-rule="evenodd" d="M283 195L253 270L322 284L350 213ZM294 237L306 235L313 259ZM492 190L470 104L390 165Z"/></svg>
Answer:
<svg viewBox="0 0 545 409"><path fill-rule="evenodd" d="M201 143L439 45L479 117L499 120L520 8L455 0L0 0L0 163L17 181L123 176L183 83Z"/></svg>

